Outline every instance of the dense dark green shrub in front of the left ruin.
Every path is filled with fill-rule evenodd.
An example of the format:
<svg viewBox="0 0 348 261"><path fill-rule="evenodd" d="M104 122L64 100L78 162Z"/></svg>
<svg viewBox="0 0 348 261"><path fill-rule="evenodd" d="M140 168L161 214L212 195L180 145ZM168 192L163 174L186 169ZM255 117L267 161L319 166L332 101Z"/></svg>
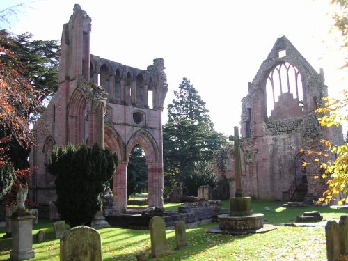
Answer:
<svg viewBox="0 0 348 261"><path fill-rule="evenodd" d="M70 226L90 225L102 209L102 193L116 170L117 156L95 144L54 148L47 170L56 176L56 207Z"/></svg>

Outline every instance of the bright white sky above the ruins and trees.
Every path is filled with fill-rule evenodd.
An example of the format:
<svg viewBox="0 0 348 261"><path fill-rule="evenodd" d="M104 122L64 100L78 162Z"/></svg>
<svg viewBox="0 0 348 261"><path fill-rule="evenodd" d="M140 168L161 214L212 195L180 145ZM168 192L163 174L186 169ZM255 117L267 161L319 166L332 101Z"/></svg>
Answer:
<svg viewBox="0 0 348 261"><path fill-rule="evenodd" d="M141 69L164 58L165 104L187 77L224 134L239 125L248 82L283 35L317 72L324 68L329 95L337 97L348 86L347 70L338 69L343 64L339 34L329 34L334 10L329 0L6 0L0 1L0 10L22 2L27 4L17 17L0 26L60 40L63 24L79 3L92 18L92 54Z"/></svg>

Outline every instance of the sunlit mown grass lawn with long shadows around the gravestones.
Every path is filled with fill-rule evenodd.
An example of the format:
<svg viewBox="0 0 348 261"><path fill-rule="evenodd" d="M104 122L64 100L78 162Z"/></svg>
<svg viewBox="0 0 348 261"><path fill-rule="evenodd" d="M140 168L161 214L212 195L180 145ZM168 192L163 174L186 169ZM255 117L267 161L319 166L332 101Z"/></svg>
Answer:
<svg viewBox="0 0 348 261"><path fill-rule="evenodd" d="M180 204L166 205L166 209L175 209ZM228 207L224 202L223 207ZM338 219L348 214L348 209L330 207L308 207L283 209L274 201L253 200L254 212L262 212L271 223L291 222L296 215L304 211L319 210L324 219ZM264 207L270 207L266 211ZM326 260L324 227L287 227L277 226L277 230L254 235L214 235L205 230L218 226L211 223L198 228L187 229L189 246L174 251L175 232L167 230L168 246L172 255L156 260ZM33 235L39 230L45 231L45 242L38 244L33 236L35 260L59 260L59 239L54 238L53 228L47 220L33 227ZM150 232L124 228L103 228L102 252L104 260L136 260L136 255L146 251L150 255ZM0 237L4 229L0 230ZM0 260L10 257L10 239L0 239Z"/></svg>

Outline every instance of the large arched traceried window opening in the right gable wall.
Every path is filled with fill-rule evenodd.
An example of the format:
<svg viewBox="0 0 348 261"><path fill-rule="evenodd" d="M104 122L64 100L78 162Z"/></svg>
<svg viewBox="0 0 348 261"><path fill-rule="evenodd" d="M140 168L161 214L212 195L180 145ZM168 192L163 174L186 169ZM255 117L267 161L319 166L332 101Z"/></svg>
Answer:
<svg viewBox="0 0 348 261"><path fill-rule="evenodd" d="M303 86L299 70L290 63L279 63L266 82L267 116L288 118L303 111Z"/></svg>

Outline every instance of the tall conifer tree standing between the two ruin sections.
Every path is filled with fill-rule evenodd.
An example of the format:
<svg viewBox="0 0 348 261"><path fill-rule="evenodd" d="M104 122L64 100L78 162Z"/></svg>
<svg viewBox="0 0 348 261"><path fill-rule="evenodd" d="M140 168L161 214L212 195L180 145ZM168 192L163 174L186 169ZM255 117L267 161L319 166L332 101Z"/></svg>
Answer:
<svg viewBox="0 0 348 261"><path fill-rule="evenodd" d="M227 139L214 130L205 102L187 78L174 94L163 127L164 181L166 187L179 184L184 192L194 191L204 184L185 184L186 177L198 162L211 162L213 152L226 145ZM188 185L195 188L189 190Z"/></svg>

